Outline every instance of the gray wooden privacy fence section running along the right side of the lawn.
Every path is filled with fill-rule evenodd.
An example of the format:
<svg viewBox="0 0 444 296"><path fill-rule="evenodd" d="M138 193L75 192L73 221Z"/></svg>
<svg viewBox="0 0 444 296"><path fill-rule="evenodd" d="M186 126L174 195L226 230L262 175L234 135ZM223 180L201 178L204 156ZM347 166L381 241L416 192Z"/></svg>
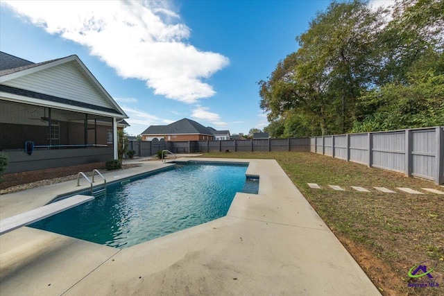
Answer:
<svg viewBox="0 0 444 296"><path fill-rule="evenodd" d="M444 184L444 127L311 137L310 151Z"/></svg>

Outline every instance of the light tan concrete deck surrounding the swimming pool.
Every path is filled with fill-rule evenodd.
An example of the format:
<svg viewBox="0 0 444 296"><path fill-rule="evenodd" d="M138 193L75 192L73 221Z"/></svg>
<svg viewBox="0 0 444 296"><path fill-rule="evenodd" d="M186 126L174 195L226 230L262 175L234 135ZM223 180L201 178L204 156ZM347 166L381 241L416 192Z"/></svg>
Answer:
<svg viewBox="0 0 444 296"><path fill-rule="evenodd" d="M30 227L3 234L0 295L380 295L278 162L190 160L250 162L259 194L237 193L223 218L122 250ZM107 182L167 165L139 164ZM0 218L76 189L0 195Z"/></svg>

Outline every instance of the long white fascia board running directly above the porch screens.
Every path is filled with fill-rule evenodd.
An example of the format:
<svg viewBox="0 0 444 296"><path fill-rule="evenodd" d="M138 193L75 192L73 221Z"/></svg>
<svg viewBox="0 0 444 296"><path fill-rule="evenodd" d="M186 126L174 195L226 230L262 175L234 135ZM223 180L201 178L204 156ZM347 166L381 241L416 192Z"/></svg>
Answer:
<svg viewBox="0 0 444 296"><path fill-rule="evenodd" d="M57 102L49 102L40 100L38 98L28 98L27 96L18 96L16 94L9 94L6 92L0 92L0 98L5 101L11 101L15 103L24 103L28 105L37 105L41 107L49 107L49 108L57 108L61 110L67 110L72 112L78 112L78 113L87 113L87 114L94 114L94 115L101 115L101 116L107 116L112 117L116 119L127 119L128 115L124 116L122 114L116 114L116 113L110 113L110 112L104 112L100 110L94 110L89 109L85 107L78 107L73 105L67 105L63 103L57 103Z"/></svg>

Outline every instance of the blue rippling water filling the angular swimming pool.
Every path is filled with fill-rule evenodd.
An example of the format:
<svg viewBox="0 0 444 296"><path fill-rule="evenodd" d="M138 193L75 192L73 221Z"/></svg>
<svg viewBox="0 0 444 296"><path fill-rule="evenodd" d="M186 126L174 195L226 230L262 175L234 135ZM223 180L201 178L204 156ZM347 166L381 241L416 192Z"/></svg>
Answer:
<svg viewBox="0 0 444 296"><path fill-rule="evenodd" d="M247 164L176 164L30 225L112 247L130 247L225 216L237 192L257 193ZM83 193L85 194L85 193Z"/></svg>

